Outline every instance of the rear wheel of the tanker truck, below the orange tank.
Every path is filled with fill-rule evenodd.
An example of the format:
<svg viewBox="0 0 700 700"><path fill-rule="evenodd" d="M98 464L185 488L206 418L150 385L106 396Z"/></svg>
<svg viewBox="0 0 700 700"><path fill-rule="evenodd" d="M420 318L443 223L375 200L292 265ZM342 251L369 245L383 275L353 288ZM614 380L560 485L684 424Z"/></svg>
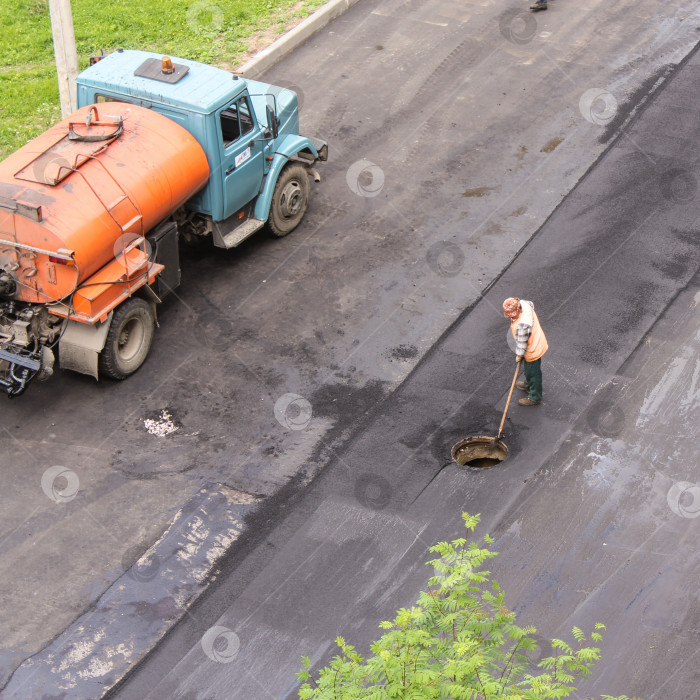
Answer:
<svg viewBox="0 0 700 700"><path fill-rule="evenodd" d="M131 297L118 306L100 353L100 374L111 379L131 376L148 357L155 325L153 310L143 299Z"/></svg>

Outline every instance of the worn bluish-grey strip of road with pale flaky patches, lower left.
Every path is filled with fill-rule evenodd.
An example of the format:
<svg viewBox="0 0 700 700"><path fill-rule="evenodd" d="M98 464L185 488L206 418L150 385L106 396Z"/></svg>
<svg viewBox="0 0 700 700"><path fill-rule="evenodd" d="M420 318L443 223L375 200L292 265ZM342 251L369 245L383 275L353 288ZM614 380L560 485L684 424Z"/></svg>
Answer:
<svg viewBox="0 0 700 700"><path fill-rule="evenodd" d="M220 484L201 489L92 610L15 670L2 697L104 697L204 593L257 504Z"/></svg>

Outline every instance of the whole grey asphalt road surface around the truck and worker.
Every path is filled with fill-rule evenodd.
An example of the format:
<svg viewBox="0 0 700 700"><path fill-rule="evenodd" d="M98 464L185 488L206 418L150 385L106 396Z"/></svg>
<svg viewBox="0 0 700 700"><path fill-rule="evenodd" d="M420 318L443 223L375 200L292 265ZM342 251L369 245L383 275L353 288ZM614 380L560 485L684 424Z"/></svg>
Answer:
<svg viewBox="0 0 700 700"><path fill-rule="evenodd" d="M3 678L99 608L209 489L259 505L212 545L228 554L202 565L210 590L119 697L293 696L301 654L323 660L341 631L366 643L414 599L426 546L463 509L498 536L499 577L544 634L597 619L614 630L606 691L694 697L699 521L666 496L698 481L683 354L697 353L697 59L675 66L699 19L682 3L611 5L556 0L534 16L360 0L268 73L330 143L300 229L186 253L131 380L58 372L5 410ZM495 432L503 408L511 294L535 300L550 341L545 403L512 409L503 467L462 471L449 447ZM664 384L672 362L685 384ZM640 413L656 386L664 410L649 399ZM609 396L631 429L616 441L595 434ZM640 416L663 444L645 428L642 450ZM52 466L79 480L69 502L41 487ZM214 625L240 642L231 663L204 654ZM119 633L112 656L138 660L139 630ZM70 663L50 661L45 697L75 697ZM652 679L657 664L677 693ZM40 676L21 667L3 697Z"/></svg>

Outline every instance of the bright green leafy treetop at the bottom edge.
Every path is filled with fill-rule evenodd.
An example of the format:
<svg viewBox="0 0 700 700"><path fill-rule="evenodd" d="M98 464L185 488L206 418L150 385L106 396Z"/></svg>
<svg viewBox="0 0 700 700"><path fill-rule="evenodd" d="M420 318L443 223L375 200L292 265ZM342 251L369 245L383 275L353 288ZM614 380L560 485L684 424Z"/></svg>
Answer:
<svg viewBox="0 0 700 700"><path fill-rule="evenodd" d="M467 532L473 532L479 516L463 517ZM483 539L487 545L493 542L488 536ZM553 639L556 656L538 664L540 675L530 673L525 653L537 648L528 636L537 629L516 624L504 592L490 572L480 569L496 552L467 538L439 542L430 551L440 555L428 562L439 576L430 577L431 587L420 593L415 605L397 610L393 621L380 623L384 634L372 643L371 656L363 659L338 637L340 653L328 667L316 674L297 674L303 683L300 698L554 700L568 698L575 691L574 681L591 674L600 649L585 646L586 635L579 627L572 629L576 651L566 641ZM592 632L591 639L598 643L602 636ZM308 657L302 664L310 669Z"/></svg>

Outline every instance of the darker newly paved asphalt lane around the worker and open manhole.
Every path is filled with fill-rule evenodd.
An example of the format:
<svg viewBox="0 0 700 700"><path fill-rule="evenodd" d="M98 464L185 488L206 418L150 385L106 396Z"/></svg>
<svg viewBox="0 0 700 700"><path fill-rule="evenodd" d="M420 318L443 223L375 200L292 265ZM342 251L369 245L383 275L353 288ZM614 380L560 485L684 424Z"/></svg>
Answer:
<svg viewBox="0 0 700 700"><path fill-rule="evenodd" d="M322 663L337 634L366 649L415 599L463 510L497 537L521 619L608 624L581 697L697 697L699 92L695 53L115 697L294 697L302 654ZM513 407L503 465L461 469L450 446L494 434L503 408L513 294L549 339L545 402Z"/></svg>

